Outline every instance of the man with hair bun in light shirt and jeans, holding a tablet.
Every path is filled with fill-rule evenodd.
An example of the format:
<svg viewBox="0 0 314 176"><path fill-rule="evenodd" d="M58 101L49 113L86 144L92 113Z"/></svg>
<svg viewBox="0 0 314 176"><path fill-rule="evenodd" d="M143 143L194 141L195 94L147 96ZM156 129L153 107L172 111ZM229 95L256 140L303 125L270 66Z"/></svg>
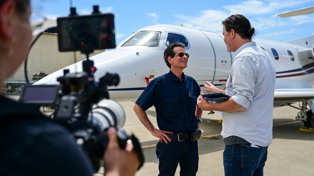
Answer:
<svg viewBox="0 0 314 176"><path fill-rule="evenodd" d="M276 70L272 57L252 42L255 29L243 15L223 22L224 42L234 52L226 90L209 82L206 91L222 92L229 100L197 105L205 111L223 111L223 166L225 175L263 175L267 148L273 140L273 97Z"/></svg>

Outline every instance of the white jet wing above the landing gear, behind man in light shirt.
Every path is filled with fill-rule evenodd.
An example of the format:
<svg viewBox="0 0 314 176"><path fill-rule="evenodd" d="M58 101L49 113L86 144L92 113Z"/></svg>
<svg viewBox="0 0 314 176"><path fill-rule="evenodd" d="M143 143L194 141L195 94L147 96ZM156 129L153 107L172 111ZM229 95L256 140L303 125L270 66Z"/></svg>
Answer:
<svg viewBox="0 0 314 176"><path fill-rule="evenodd" d="M314 89L275 89L274 106L314 98Z"/></svg>

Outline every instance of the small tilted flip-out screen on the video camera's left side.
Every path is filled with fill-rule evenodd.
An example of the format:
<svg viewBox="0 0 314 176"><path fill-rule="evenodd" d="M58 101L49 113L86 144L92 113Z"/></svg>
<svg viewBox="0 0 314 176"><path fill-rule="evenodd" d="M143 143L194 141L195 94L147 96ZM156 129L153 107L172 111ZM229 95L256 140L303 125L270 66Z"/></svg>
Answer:
<svg viewBox="0 0 314 176"><path fill-rule="evenodd" d="M28 104L54 105L59 85L24 85L19 102Z"/></svg>

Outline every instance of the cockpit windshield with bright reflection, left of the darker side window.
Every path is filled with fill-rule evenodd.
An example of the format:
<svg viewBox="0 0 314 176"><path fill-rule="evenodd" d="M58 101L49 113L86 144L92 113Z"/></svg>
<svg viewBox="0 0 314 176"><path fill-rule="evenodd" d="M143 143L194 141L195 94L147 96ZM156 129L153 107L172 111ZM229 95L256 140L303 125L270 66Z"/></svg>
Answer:
<svg viewBox="0 0 314 176"><path fill-rule="evenodd" d="M129 39L124 46L158 46L161 32L142 31Z"/></svg>

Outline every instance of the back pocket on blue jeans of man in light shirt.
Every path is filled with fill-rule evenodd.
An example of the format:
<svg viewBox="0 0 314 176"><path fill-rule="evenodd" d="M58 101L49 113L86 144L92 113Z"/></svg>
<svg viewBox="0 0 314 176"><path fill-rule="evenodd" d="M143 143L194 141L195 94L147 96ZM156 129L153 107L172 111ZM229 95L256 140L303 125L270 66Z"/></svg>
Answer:
<svg viewBox="0 0 314 176"><path fill-rule="evenodd" d="M248 145L241 145L241 166L251 170L258 168L262 151L263 147L255 148Z"/></svg>

